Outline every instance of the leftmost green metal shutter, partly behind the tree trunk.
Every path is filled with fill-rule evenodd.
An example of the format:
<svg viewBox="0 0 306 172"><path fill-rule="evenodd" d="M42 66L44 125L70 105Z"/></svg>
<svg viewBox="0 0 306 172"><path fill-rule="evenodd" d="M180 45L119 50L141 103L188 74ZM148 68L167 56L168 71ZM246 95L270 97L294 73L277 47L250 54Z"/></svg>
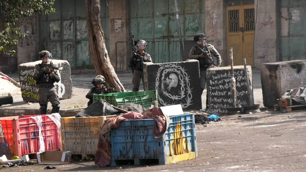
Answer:
<svg viewBox="0 0 306 172"><path fill-rule="evenodd" d="M109 52L109 10L101 0L101 25ZM58 0L55 13L39 16L39 48L49 50L53 59L67 60L71 69L94 69L88 42L84 0Z"/></svg>

